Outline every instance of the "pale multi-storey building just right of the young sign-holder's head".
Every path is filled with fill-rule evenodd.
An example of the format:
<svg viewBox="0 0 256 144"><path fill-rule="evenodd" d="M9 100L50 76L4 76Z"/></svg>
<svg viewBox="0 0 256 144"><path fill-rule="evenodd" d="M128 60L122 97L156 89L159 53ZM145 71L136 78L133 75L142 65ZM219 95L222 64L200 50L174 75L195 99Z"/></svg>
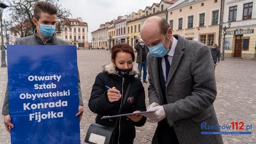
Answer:
<svg viewBox="0 0 256 144"><path fill-rule="evenodd" d="M70 27L57 24L56 36L71 45L76 45L77 49L88 49L88 25L82 18L69 18Z"/></svg>

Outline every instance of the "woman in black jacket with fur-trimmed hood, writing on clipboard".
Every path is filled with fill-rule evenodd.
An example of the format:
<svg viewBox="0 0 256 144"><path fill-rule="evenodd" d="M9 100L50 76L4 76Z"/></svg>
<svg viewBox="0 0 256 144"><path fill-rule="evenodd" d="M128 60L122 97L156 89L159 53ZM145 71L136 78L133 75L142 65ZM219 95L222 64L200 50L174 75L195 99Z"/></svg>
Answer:
<svg viewBox="0 0 256 144"><path fill-rule="evenodd" d="M113 116L119 114L121 101L124 106L120 114L136 113L146 111L144 87L134 76L139 74L133 67L135 54L128 44L118 44L111 48L112 63L103 67L103 72L99 73L92 86L89 108L98 114L96 123L103 126L115 126L115 144L133 144L135 138L135 126L143 126L146 117L142 115L130 115L127 117L101 119L103 116ZM128 96L125 97L128 84ZM109 86L111 89L107 89Z"/></svg>

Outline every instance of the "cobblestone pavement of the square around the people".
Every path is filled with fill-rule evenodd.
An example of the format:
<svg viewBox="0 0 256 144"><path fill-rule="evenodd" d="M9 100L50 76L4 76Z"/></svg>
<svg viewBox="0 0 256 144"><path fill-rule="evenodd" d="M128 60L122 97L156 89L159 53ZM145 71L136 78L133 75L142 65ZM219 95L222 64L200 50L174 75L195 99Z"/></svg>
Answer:
<svg viewBox="0 0 256 144"><path fill-rule="evenodd" d="M96 114L88 108L91 86L96 75L102 71L102 65L107 63L110 63L110 54L106 50L78 50L78 67L84 103L84 113L80 123L81 144L84 144L87 129L96 117ZM0 111L6 82L7 68L0 68ZM216 82L218 96L214 106L219 125L243 121L245 125L252 124L253 127L250 130L252 135L222 135L224 144L256 144L256 60L226 58L216 67ZM144 87L148 106L148 84L144 83ZM2 118L0 116L0 119ZM135 144L151 144L155 128L155 123L146 123L145 126L137 127ZM0 144L10 144L10 135L2 122L0 123Z"/></svg>

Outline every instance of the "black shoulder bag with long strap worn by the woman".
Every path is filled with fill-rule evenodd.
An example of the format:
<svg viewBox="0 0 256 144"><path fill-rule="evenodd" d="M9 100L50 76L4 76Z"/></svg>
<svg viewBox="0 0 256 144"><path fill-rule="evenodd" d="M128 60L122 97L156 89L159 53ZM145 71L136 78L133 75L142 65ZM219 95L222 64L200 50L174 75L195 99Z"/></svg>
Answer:
<svg viewBox="0 0 256 144"><path fill-rule="evenodd" d="M119 114L126 101L125 99L127 98L131 83L132 81L128 85L124 99L121 100ZM114 144L116 135L115 127L118 124L119 118L120 117L117 118L115 126L102 126L97 123L92 123L88 128L84 142L89 144Z"/></svg>

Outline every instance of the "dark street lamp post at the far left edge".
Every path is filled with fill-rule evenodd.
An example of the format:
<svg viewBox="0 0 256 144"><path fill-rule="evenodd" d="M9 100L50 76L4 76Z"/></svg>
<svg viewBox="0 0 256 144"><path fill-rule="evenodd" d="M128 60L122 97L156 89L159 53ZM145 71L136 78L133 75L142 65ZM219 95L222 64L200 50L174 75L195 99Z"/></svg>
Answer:
<svg viewBox="0 0 256 144"><path fill-rule="evenodd" d="M3 23L2 23L2 16L3 16L3 9L7 8L8 5L4 2L0 1L0 24L1 24L1 67L6 67L5 62L5 49L4 49L4 41L3 41Z"/></svg>

